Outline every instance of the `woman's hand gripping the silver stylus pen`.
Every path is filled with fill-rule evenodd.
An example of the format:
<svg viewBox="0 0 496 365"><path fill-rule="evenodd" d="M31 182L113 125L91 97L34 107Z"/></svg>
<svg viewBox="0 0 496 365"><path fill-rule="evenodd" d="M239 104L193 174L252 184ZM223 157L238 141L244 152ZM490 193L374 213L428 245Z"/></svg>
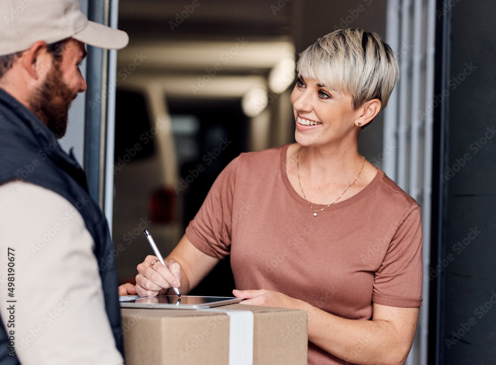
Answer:
<svg viewBox="0 0 496 365"><path fill-rule="evenodd" d="M166 263L168 267L155 256L147 256L137 266L135 290L140 297L154 297L165 294L171 286L180 287L181 266L174 260Z"/></svg>

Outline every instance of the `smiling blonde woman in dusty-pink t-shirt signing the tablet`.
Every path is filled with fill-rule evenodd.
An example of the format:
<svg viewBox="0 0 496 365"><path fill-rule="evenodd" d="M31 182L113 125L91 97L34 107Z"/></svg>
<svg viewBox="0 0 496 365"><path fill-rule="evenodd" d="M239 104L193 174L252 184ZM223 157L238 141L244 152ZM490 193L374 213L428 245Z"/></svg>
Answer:
<svg viewBox="0 0 496 365"><path fill-rule="evenodd" d="M422 303L420 207L357 147L398 79L396 57L375 33L346 29L297 69L296 143L235 158L169 268L148 256L135 290L186 294L230 255L243 303L308 311L309 364L403 364Z"/></svg>

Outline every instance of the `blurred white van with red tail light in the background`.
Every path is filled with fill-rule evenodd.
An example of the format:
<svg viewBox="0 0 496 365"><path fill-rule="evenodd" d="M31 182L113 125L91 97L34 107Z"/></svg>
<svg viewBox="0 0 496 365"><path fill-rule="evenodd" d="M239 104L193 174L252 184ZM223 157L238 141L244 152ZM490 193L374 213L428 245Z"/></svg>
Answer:
<svg viewBox="0 0 496 365"><path fill-rule="evenodd" d="M171 118L153 84L120 87L116 95L113 241L120 281L153 251L146 228L164 257L179 242L181 197Z"/></svg>

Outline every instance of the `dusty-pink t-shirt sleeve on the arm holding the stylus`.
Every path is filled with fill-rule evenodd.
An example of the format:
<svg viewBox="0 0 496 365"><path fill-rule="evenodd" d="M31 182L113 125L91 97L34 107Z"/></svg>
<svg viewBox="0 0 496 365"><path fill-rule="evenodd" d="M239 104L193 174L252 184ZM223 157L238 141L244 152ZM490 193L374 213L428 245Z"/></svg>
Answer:
<svg viewBox="0 0 496 365"><path fill-rule="evenodd" d="M201 208L186 227L186 237L203 253L224 259L231 250L231 224L240 156L219 174Z"/></svg>

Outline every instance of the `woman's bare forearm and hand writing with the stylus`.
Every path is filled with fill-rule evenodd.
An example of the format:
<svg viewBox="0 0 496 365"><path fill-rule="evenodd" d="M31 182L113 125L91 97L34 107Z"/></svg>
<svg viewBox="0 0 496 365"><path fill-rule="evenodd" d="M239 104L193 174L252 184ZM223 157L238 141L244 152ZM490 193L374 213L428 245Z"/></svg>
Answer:
<svg viewBox="0 0 496 365"><path fill-rule="evenodd" d="M147 256L138 266L135 290L141 297L153 297L165 293L172 285L181 287L181 293L187 294L214 268L220 259L204 254L188 240L186 235L165 259L169 268L155 256Z"/></svg>

